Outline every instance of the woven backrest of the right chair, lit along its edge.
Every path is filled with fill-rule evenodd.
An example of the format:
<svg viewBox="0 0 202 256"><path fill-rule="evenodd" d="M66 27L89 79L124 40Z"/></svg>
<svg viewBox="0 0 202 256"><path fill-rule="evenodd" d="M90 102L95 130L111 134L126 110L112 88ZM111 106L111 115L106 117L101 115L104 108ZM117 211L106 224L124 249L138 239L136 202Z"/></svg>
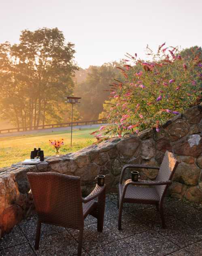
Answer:
<svg viewBox="0 0 202 256"><path fill-rule="evenodd" d="M174 154L166 151L158 175L156 177L156 181L171 180L172 176L174 175L174 171L176 169L177 164L178 162L174 157ZM163 196L166 187L167 185L156 186L160 198Z"/></svg>

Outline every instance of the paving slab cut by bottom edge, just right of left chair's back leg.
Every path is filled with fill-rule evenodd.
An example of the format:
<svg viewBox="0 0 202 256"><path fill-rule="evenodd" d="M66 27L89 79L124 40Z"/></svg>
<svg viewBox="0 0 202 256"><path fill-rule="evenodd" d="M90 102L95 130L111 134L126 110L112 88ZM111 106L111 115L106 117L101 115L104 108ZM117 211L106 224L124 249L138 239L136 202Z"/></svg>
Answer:
<svg viewBox="0 0 202 256"><path fill-rule="evenodd" d="M116 241L107 245L101 245L88 251L91 256L134 256L134 249L124 241Z"/></svg>

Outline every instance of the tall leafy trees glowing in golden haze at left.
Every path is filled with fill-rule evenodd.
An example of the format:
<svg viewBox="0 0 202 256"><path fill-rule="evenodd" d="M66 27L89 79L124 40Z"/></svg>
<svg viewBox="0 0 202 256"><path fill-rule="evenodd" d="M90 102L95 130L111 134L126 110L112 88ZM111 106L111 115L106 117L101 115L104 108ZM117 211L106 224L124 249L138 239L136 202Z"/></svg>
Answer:
<svg viewBox="0 0 202 256"><path fill-rule="evenodd" d="M0 44L0 114L18 128L64 121L72 95L74 44L57 28L23 30L18 44ZM78 112L74 113L78 118Z"/></svg>

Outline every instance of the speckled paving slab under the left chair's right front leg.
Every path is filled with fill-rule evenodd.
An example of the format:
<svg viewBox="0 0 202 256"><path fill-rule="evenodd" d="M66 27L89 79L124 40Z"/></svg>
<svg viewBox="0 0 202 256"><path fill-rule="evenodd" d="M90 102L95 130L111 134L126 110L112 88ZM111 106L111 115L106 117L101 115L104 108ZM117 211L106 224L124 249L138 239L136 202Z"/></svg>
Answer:
<svg viewBox="0 0 202 256"><path fill-rule="evenodd" d="M79 231L70 229L68 230L72 236L78 240ZM97 231L97 224L85 225L83 232L83 243L82 246L85 250L90 250L95 247L99 247L101 244L113 242L121 239L117 234L113 234L110 229L103 228L103 232Z"/></svg>

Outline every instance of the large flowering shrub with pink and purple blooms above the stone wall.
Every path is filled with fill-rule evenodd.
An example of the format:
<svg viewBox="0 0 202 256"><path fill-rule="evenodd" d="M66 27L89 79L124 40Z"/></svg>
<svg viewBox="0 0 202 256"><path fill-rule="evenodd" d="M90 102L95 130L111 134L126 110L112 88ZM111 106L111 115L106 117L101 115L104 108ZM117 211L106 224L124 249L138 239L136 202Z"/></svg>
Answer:
<svg viewBox="0 0 202 256"><path fill-rule="evenodd" d="M177 47L164 45L155 54L147 46L147 55L151 57L147 62L138 59L137 54L126 55L123 67L117 67L125 79L110 84L110 125L96 133L121 137L148 127L155 127L158 132L166 120L200 103L201 50L185 62Z"/></svg>

